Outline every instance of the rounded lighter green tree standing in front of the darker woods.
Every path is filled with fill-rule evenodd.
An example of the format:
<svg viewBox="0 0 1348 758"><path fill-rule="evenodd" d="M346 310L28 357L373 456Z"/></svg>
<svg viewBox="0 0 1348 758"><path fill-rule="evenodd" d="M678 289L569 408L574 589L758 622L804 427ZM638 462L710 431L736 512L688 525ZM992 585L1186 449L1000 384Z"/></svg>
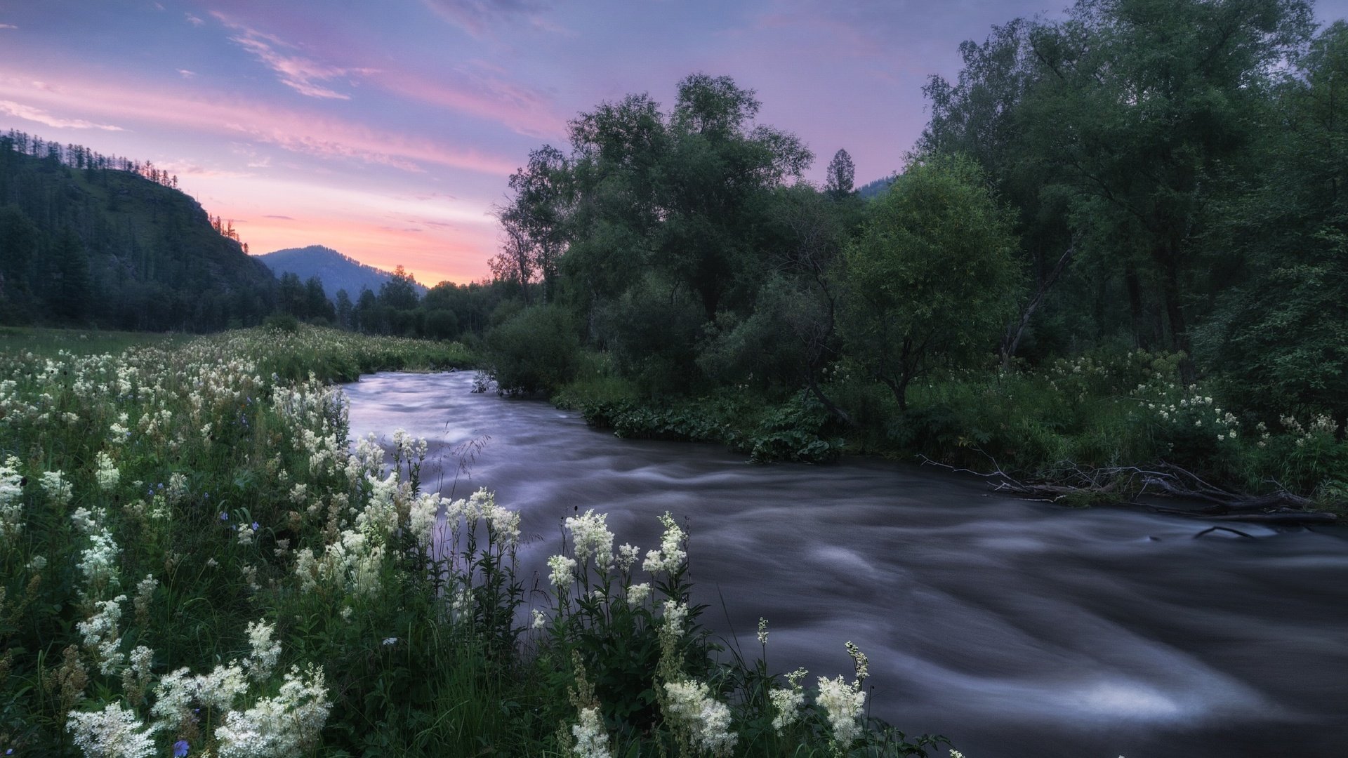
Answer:
<svg viewBox="0 0 1348 758"><path fill-rule="evenodd" d="M907 409L934 363L989 353L1020 291L1012 220L962 156L925 156L876 201L842 255L848 355Z"/></svg>

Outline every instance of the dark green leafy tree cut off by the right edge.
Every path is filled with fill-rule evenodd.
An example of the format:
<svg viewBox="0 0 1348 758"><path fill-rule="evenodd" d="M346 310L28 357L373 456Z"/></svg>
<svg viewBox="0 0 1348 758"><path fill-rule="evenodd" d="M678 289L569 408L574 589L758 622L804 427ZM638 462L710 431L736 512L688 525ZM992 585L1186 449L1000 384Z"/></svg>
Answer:
<svg viewBox="0 0 1348 758"><path fill-rule="evenodd" d="M1217 299L1197 355L1237 405L1348 419L1348 24L1310 45L1278 90L1267 166L1227 205L1219 243L1246 281ZM1279 128L1281 127L1281 128Z"/></svg>

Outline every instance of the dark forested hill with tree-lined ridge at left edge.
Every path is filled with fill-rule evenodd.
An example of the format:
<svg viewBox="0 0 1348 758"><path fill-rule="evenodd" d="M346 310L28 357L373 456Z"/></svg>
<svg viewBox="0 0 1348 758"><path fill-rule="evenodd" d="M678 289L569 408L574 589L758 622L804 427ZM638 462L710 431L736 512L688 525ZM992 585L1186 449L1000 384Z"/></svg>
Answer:
<svg viewBox="0 0 1348 758"><path fill-rule="evenodd" d="M271 271L174 185L150 165L0 135L0 322L259 322L275 301Z"/></svg>

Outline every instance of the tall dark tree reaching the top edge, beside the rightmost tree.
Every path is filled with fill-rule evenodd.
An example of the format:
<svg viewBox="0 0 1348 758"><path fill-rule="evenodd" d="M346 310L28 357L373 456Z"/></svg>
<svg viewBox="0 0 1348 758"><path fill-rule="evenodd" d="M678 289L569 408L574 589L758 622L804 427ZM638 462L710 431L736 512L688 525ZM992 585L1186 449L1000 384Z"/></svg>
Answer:
<svg viewBox="0 0 1348 758"><path fill-rule="evenodd" d="M1270 82L1310 28L1301 0L1078 0L1029 31L1027 167L1068 196L1084 260L1122 268L1139 341L1146 308L1189 351L1209 212L1244 178Z"/></svg>

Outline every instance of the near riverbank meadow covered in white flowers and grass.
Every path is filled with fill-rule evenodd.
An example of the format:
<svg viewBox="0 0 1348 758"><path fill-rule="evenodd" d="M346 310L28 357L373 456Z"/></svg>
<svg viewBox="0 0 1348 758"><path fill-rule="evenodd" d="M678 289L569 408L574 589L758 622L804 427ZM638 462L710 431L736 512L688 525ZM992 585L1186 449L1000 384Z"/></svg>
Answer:
<svg viewBox="0 0 1348 758"><path fill-rule="evenodd" d="M601 514L568 519L547 589L526 595L518 517L487 492L423 491L425 441L390 430L388 452L352 446L332 384L461 367L458 344L307 326L4 339L0 753L910 755L940 743L863 718L859 650L855 672L814 684L718 661L687 606L674 519L647 550L615 546Z"/></svg>

